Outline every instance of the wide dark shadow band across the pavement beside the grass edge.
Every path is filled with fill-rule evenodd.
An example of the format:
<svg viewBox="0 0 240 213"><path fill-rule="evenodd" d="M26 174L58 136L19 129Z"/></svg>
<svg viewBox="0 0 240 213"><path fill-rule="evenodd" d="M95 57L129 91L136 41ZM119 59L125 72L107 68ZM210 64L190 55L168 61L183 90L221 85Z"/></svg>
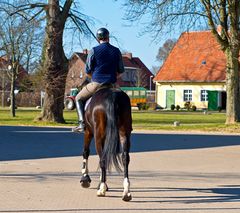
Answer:
<svg viewBox="0 0 240 213"><path fill-rule="evenodd" d="M240 145L240 136L135 133L131 141L131 152L148 152ZM82 147L83 134L69 128L0 126L0 161L80 156Z"/></svg>

